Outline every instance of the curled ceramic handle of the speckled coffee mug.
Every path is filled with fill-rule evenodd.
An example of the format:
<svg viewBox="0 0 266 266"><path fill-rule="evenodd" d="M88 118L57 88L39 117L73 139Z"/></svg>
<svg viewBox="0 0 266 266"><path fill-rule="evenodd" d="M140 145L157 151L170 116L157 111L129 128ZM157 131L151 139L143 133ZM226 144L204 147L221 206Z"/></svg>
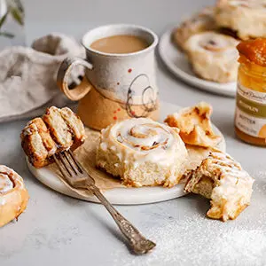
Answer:
<svg viewBox="0 0 266 266"><path fill-rule="evenodd" d="M68 78L71 73L72 67L82 65L88 69L92 69L93 66L86 60L81 58L66 58L61 63L57 76L57 83L59 89L66 95L67 98L77 101L83 98L92 88L92 85L87 80L86 76L83 77L82 82L76 86L73 90L68 88Z"/></svg>

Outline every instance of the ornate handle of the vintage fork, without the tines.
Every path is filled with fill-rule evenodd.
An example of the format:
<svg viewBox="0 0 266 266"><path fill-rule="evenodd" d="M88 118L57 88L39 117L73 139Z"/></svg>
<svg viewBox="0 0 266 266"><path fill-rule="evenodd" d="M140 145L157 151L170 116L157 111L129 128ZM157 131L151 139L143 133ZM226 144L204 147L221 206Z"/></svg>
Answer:
<svg viewBox="0 0 266 266"><path fill-rule="evenodd" d="M133 249L136 254L145 254L152 250L156 246L153 241L145 239L145 237L135 228L129 221L124 218L113 205L106 200L106 197L99 191L98 187L94 184L89 184L87 187L90 192L98 198L98 200L106 207L113 220L117 223L119 229L128 241L129 246Z"/></svg>

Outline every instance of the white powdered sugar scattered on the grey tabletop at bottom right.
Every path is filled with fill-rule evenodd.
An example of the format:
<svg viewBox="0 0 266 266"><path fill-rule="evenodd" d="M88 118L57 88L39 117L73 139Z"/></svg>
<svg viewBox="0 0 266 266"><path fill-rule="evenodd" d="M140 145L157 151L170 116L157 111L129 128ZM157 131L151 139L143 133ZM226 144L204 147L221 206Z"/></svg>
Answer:
<svg viewBox="0 0 266 266"><path fill-rule="evenodd" d="M153 253L129 257L124 250L117 250L113 262L123 266L266 265L266 212L262 196L263 185L254 185L251 207L237 220L226 223L207 219L201 212L204 206L192 209L191 205L190 210L182 213L175 200L168 202L163 208L165 217L158 216L157 223L153 223L152 216L141 223L141 231L157 244ZM167 209L173 205L178 217L169 218Z"/></svg>

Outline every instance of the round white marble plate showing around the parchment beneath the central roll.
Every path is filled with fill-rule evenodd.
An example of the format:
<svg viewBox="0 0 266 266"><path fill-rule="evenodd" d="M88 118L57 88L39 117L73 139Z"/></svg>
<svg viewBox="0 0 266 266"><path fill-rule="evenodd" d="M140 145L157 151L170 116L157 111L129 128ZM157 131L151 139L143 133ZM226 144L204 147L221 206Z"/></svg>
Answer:
<svg viewBox="0 0 266 266"><path fill-rule="evenodd" d="M160 104L160 121L163 121L169 113L174 113L179 106L174 106L168 103L161 102ZM219 129L214 127L215 132L222 133ZM219 145L219 148L225 151L225 141L224 138ZM51 189L66 194L70 197L87 200L92 202L98 202L94 196L82 197L75 192L72 192L69 188L63 184L59 178L49 169L49 168L34 168L28 161L27 166L30 172L43 184L47 185ZM172 200L178 197L184 196L183 192L184 184L177 184L173 188L163 188L163 187L142 187L142 188L116 188L107 192L104 192L106 198L113 204L119 205L137 205L159 202L164 200Z"/></svg>

